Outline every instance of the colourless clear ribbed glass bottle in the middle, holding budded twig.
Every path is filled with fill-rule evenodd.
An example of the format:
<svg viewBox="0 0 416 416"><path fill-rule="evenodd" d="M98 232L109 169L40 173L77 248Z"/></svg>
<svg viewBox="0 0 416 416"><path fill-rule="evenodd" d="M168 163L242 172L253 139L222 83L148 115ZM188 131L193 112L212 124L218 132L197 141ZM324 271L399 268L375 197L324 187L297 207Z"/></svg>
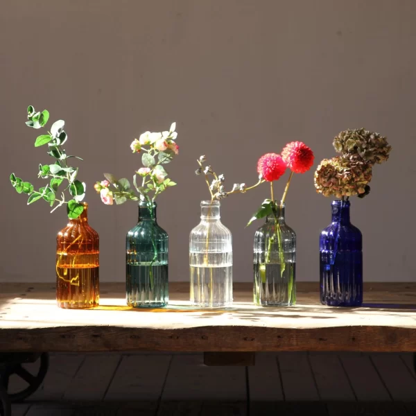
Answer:
<svg viewBox="0 0 416 416"><path fill-rule="evenodd" d="M232 236L220 221L220 202L201 202L201 222L189 236L191 302L232 306Z"/></svg>

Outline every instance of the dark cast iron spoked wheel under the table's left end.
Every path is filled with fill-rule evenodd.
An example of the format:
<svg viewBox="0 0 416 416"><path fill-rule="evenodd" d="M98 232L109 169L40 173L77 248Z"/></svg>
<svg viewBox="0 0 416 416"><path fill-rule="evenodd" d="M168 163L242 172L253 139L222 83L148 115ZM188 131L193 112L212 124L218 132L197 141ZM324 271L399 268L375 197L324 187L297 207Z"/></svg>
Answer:
<svg viewBox="0 0 416 416"><path fill-rule="evenodd" d="M3 370L0 374L0 381L3 390L6 392L6 396L10 401L22 401L26 399L26 397L33 395L33 393L42 384L42 381L44 381L46 372L48 371L49 367L49 355L46 352L43 352L42 354L40 354L37 360L40 360L40 367L39 370L37 370L37 374L31 374L31 372L29 372L28 370L26 370L25 367L23 367L22 363L6 363L3 366ZM8 383L12 374L16 374L21 379L26 381L26 383L28 383L28 387L19 392L8 394Z"/></svg>

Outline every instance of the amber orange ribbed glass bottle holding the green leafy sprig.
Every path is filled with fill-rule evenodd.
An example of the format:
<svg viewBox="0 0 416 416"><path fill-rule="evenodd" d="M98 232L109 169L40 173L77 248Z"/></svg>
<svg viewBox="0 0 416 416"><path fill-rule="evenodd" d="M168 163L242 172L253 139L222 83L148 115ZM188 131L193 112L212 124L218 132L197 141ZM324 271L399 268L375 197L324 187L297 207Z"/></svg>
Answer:
<svg viewBox="0 0 416 416"><path fill-rule="evenodd" d="M60 308L98 306L99 238L88 224L88 204L56 238L56 300Z"/></svg>

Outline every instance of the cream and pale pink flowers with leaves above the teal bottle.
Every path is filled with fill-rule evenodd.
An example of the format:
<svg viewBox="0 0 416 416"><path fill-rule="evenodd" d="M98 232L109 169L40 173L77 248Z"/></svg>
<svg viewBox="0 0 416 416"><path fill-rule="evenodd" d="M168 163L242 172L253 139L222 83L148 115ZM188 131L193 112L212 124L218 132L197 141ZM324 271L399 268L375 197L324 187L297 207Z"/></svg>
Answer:
<svg viewBox="0 0 416 416"><path fill-rule="evenodd" d="M139 139L132 141L130 148L133 153L141 153L141 163L144 167L139 168L133 175L132 189L130 182L125 177L116 179L112 173L104 173L105 180L96 182L94 189L100 193L101 200L105 205L123 204L126 200L154 201L157 196L168 187L174 187L176 182L169 179L168 172L163 165L170 163L179 153L175 139L176 123L172 123L169 131L144 132ZM137 183L141 178L141 184ZM113 189L110 189L110 184Z"/></svg>

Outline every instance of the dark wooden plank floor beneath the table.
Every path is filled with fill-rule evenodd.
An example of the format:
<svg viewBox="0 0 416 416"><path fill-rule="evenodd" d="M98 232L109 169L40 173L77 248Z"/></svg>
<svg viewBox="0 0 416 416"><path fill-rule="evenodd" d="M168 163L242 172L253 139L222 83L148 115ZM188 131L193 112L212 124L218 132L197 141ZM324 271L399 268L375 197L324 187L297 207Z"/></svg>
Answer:
<svg viewBox="0 0 416 416"><path fill-rule="evenodd" d="M12 415L416 415L411 354L260 353L254 367L202 361L202 354L51 354L42 387Z"/></svg>

